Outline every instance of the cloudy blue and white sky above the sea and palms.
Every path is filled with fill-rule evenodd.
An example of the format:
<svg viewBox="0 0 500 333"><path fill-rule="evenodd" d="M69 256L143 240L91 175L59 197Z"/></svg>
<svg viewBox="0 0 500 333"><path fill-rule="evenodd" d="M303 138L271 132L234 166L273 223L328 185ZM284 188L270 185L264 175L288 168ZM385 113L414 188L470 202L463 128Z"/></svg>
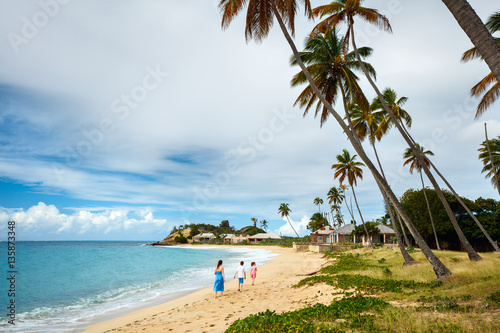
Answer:
<svg viewBox="0 0 500 333"><path fill-rule="evenodd" d="M469 2L483 21L498 10ZM245 14L222 30L217 4L0 0L0 240L11 220L17 240L156 241L181 224L239 229L252 217L292 235L283 202L308 234L314 198L326 204L338 186L335 156L354 150L333 119L320 128L293 106L303 88L290 87L298 67L278 25L246 43ZM374 49L378 87L408 97L411 134L461 196L497 199L477 149L484 123L490 138L500 134L500 104L474 119L469 91L489 69L460 62L472 46L465 33L438 0L364 6L393 29L356 22L358 47ZM315 25L302 13L299 50ZM420 187L403 166L405 148L395 130L378 144L398 196ZM356 194L365 220L385 214L367 169Z"/></svg>

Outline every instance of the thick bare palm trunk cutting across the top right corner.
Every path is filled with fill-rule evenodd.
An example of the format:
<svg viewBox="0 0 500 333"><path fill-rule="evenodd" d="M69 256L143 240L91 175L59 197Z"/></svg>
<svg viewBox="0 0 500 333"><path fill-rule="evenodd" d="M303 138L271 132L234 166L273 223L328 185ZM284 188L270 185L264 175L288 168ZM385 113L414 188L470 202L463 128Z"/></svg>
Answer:
<svg viewBox="0 0 500 333"><path fill-rule="evenodd" d="M442 0L500 82L500 46L467 0Z"/></svg>

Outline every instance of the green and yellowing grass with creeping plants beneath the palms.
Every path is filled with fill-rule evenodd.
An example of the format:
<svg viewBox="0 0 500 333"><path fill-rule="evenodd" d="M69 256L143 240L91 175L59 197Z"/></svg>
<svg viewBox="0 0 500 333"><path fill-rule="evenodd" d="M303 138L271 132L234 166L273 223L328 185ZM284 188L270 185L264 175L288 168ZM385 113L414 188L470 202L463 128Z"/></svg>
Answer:
<svg viewBox="0 0 500 333"><path fill-rule="evenodd" d="M331 261L293 287L333 286L331 304L261 312L226 332L498 332L500 255L471 262L464 252L435 253L453 273L440 282L418 249L406 267L397 248L326 253Z"/></svg>

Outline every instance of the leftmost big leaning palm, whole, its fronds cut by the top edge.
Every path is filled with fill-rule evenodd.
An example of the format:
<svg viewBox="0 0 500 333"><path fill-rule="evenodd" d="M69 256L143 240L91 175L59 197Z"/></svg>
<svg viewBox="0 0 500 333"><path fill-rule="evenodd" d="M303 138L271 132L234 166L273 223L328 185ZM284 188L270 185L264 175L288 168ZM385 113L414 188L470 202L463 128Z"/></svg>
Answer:
<svg viewBox="0 0 500 333"><path fill-rule="evenodd" d="M266 37L267 33L269 32L269 29L273 23L273 17L271 15L267 15L263 13L262 15L260 14L260 11L262 11L262 8L269 9L271 10L272 14L274 14L274 17L278 21L278 24L281 28L281 31L292 49L292 52L297 59L297 63L299 64L300 68L304 72L304 75L307 77L307 81L311 85L311 88L314 92L314 94L321 100L323 105L325 105L330 112L330 114L335 118L335 120L338 122L344 133L346 134L347 138L353 145L354 149L358 153L359 157L363 160L365 165L368 167L370 172L372 173L375 181L383 188L383 190L387 193L389 196L390 200L394 204L394 208L396 211L400 214L401 218L403 221L406 223L408 229L412 233L413 237L415 238L418 246L422 249L423 253L425 254L427 260L431 264L434 273L436 274L436 277L438 279L446 278L451 275L451 271L439 260L438 257L432 252L430 248L428 248L427 244L423 240L423 238L420 236L418 233L418 230L415 228L411 220L409 219L408 215L405 213L401 203L399 202L398 198L392 191L391 187L387 183L387 181L380 175L378 172L377 168L375 165L371 162L371 160L368 158L366 155L363 146L359 143L357 137L351 132L350 128L344 123L342 117L335 111L333 106L327 101L325 96L320 92L316 84L314 83L314 80L305 67L304 63L300 59L299 53L297 51L297 48L292 40L292 37L290 36L288 30L290 30L293 34L294 32L294 18L295 18L295 9L297 8L296 4L297 2L294 0L287 1L286 3L279 3L279 10L278 6L276 5L277 0L254 0L251 3L249 3L249 10L247 11L247 25L246 25L246 32L251 32L251 31L256 31L255 34L252 33L246 33L247 41L249 38L256 38L257 41L263 39ZM305 4L306 8L306 14L310 14L310 3L308 0L302 0ZM246 5L247 1L246 0L221 0L219 3L219 8L221 9L222 12L222 27L227 28L232 21L234 17L243 9L243 7ZM287 10L288 9L288 10ZM280 12L281 10L281 12ZM281 18L281 14L284 13L285 21ZM288 28L285 25L285 23L288 24ZM260 27L258 27L260 25ZM257 32L262 32L257 34ZM356 54L356 57L358 58L359 62L359 55ZM364 68L364 67L362 67ZM366 71L366 68L364 69L364 72ZM366 75L366 74L365 74Z"/></svg>

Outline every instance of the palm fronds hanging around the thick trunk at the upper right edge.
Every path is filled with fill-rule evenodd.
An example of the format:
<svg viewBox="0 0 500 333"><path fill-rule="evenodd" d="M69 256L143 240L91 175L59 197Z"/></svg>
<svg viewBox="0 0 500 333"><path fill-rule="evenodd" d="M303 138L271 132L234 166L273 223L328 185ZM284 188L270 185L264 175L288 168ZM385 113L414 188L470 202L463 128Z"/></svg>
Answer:
<svg viewBox="0 0 500 333"><path fill-rule="evenodd" d="M500 11L493 13L488 18L488 21L486 21L486 27L491 34L500 31ZM500 38L495 38L495 41L498 45L500 45ZM462 55L463 62L468 62L472 59L483 59L476 47L465 51ZM492 86L488 91L486 91L486 89L488 89L490 85ZM485 91L486 93L484 93ZM486 75L471 89L471 96L480 97L483 93L484 95L479 102L479 105L477 106L475 118L478 118L480 115L482 115L483 112L486 111L493 103L495 103L498 97L500 97L500 85L498 84L498 80L495 78L492 72Z"/></svg>

